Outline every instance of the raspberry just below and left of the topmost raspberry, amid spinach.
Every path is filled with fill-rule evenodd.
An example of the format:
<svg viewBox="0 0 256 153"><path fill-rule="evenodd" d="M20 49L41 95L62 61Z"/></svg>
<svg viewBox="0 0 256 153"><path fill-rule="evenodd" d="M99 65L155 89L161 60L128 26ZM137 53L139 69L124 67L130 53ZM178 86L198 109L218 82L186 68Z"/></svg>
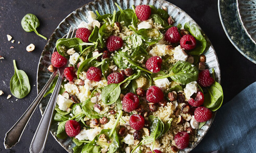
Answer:
<svg viewBox="0 0 256 153"><path fill-rule="evenodd" d="M107 39L107 48L110 52L113 52L123 46L122 38L118 36L109 36Z"/></svg>

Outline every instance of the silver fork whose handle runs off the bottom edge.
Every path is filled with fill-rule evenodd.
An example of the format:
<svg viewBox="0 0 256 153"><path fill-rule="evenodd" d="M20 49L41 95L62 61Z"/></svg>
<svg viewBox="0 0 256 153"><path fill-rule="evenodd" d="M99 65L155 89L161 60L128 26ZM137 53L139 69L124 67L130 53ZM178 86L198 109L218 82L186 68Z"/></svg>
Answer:
<svg viewBox="0 0 256 153"><path fill-rule="evenodd" d="M75 30L76 30L76 28L73 29L71 38L73 38ZM69 31L69 34L70 34L70 32L71 31ZM68 65L68 63L67 63L67 65ZM49 103L46 106L44 114L43 114L43 116L40 120L40 123L36 129L36 133L31 141L30 149L29 149L30 153L42 153L44 151L44 146L45 146L45 143L46 143L49 131L50 131L51 123L52 123L53 111L54 111L56 101L58 98L58 94L60 91L61 82L64 77L64 73L63 73L64 69L65 69L65 66L58 68L59 77L58 77L57 83L55 85L55 88L52 92L52 96L49 100Z"/></svg>

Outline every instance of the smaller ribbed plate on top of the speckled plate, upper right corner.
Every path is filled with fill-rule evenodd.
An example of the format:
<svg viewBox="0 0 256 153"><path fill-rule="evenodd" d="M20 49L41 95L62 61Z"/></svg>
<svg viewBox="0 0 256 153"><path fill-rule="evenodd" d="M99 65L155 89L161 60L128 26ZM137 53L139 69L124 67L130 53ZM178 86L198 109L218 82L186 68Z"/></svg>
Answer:
<svg viewBox="0 0 256 153"><path fill-rule="evenodd" d="M256 44L256 1L236 0L238 15L245 32Z"/></svg>

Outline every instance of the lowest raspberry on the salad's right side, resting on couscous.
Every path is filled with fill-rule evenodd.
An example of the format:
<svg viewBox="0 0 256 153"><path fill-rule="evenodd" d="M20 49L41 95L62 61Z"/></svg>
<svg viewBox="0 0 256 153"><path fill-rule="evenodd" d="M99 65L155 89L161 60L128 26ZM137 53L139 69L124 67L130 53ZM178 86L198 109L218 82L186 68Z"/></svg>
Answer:
<svg viewBox="0 0 256 153"><path fill-rule="evenodd" d="M185 149L189 144L189 135L185 131L179 132L174 136L174 141L177 148Z"/></svg>

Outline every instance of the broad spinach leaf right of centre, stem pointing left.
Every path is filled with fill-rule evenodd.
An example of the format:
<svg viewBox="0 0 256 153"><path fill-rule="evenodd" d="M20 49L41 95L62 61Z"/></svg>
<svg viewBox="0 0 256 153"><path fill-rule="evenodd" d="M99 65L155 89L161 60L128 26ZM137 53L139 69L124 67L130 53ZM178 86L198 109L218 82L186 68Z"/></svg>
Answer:
<svg viewBox="0 0 256 153"><path fill-rule="evenodd" d="M195 66L192 66L189 62L178 61L172 67L169 74L156 77L154 80L171 77L172 80L180 84L188 84L192 81L196 81L198 78L198 69Z"/></svg>

